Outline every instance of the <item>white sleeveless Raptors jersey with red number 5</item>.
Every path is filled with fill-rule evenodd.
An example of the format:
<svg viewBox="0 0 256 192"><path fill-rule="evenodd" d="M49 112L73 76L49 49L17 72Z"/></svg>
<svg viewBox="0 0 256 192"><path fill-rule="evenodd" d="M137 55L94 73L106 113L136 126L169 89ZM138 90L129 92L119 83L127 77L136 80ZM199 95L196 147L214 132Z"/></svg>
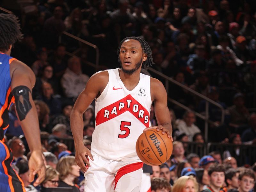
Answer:
<svg viewBox="0 0 256 192"><path fill-rule="evenodd" d="M149 127L150 76L140 73L139 83L129 91L118 70L107 70L108 85L95 100L96 124L91 148L107 159L141 162L135 145L143 129Z"/></svg>

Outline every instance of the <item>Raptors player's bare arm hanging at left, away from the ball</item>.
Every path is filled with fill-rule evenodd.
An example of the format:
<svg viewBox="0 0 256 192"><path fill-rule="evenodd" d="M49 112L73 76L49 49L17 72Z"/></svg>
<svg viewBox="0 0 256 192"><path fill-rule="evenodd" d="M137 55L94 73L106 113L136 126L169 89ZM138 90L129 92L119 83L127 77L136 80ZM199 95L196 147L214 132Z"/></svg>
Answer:
<svg viewBox="0 0 256 192"><path fill-rule="evenodd" d="M70 125L76 148L76 164L85 172L85 164L90 166L86 159L90 156L93 160L91 151L83 143L83 114L92 101L99 97L106 85L108 84L108 72L102 71L94 74L86 84L85 89L78 96L70 115ZM85 163L85 164L84 164Z"/></svg>

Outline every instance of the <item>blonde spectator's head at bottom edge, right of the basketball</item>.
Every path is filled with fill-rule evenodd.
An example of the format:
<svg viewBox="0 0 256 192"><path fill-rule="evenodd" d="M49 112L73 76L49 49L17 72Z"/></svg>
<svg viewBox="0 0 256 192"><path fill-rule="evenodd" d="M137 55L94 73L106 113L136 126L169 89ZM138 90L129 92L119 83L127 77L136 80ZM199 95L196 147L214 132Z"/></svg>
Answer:
<svg viewBox="0 0 256 192"><path fill-rule="evenodd" d="M193 176L182 176L173 185L172 191L175 192L196 192L198 191L198 183Z"/></svg>

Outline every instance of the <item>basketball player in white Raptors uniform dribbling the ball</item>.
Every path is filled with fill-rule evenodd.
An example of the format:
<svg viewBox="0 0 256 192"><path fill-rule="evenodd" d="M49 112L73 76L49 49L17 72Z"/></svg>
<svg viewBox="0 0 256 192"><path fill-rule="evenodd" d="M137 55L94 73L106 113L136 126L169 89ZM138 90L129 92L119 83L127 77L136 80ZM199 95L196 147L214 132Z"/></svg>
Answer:
<svg viewBox="0 0 256 192"><path fill-rule="evenodd" d="M140 73L141 67L153 64L148 43L127 37L120 43L117 55L121 69L94 74L70 116L76 163L85 172L86 192L140 191L143 163L135 150L138 137L143 131L156 128L172 139L165 88L157 79ZM83 113L93 99L96 125L90 151L83 144ZM149 127L153 101L158 126Z"/></svg>

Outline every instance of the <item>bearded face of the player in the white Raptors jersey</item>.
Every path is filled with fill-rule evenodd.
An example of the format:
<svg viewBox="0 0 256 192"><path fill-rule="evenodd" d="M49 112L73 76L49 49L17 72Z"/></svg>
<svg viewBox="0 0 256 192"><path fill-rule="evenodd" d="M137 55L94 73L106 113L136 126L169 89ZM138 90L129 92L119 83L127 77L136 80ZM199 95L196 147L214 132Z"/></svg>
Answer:
<svg viewBox="0 0 256 192"><path fill-rule="evenodd" d="M143 61L147 60L143 53L140 42L134 39L127 39L120 48L120 64L124 73L132 74L141 69Z"/></svg>

